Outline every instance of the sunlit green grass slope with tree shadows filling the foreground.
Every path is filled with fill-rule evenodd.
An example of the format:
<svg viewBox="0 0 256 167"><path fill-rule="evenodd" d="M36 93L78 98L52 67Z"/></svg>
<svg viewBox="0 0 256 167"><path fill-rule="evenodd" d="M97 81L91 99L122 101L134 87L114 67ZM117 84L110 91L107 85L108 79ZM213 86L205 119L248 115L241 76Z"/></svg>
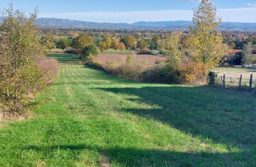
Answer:
<svg viewBox="0 0 256 167"><path fill-rule="evenodd" d="M255 166L248 92L142 84L61 65L34 119L0 130L0 166Z"/></svg>

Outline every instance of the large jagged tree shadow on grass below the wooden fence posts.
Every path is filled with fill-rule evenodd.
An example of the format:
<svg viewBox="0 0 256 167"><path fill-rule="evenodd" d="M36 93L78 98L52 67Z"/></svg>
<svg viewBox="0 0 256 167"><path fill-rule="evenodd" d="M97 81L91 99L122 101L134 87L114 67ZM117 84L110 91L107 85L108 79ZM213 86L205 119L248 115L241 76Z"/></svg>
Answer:
<svg viewBox="0 0 256 167"><path fill-rule="evenodd" d="M244 92L212 87L98 88L135 103L158 105L158 109L120 109L169 124L192 136L214 143L256 151L256 98ZM135 97L134 97L135 96Z"/></svg>

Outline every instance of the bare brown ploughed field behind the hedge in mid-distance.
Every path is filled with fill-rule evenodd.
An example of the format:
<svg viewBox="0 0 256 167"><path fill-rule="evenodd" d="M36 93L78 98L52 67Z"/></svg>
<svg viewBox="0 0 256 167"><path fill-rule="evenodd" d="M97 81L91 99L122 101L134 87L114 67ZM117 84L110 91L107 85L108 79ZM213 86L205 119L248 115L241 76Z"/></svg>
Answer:
<svg viewBox="0 0 256 167"><path fill-rule="evenodd" d="M129 55L121 54L100 54L95 59L97 62L123 62ZM154 66L157 62L165 60L164 57L154 55L133 55L133 58L138 63L147 63L149 66Z"/></svg>

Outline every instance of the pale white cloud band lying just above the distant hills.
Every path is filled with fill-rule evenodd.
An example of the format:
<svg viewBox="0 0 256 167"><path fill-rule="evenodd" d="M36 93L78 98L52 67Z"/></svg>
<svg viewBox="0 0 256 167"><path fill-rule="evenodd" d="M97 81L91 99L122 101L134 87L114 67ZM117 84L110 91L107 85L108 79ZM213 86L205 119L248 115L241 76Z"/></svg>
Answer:
<svg viewBox="0 0 256 167"><path fill-rule="evenodd" d="M256 8L217 10L224 22L256 22ZM39 17L55 17L94 22L191 21L192 10L158 10L140 12L75 12L41 13Z"/></svg>

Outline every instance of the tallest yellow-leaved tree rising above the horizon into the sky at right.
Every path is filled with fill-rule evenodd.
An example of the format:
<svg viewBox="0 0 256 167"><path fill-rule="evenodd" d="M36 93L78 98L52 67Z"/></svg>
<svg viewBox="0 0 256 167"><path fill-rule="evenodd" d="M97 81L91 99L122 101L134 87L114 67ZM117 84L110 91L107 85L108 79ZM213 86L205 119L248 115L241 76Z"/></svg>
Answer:
<svg viewBox="0 0 256 167"><path fill-rule="evenodd" d="M194 10L193 22L195 27L190 28L192 57L209 68L218 66L226 49L223 49L221 32L217 30L221 19L216 17L216 8L210 0L202 0Z"/></svg>

